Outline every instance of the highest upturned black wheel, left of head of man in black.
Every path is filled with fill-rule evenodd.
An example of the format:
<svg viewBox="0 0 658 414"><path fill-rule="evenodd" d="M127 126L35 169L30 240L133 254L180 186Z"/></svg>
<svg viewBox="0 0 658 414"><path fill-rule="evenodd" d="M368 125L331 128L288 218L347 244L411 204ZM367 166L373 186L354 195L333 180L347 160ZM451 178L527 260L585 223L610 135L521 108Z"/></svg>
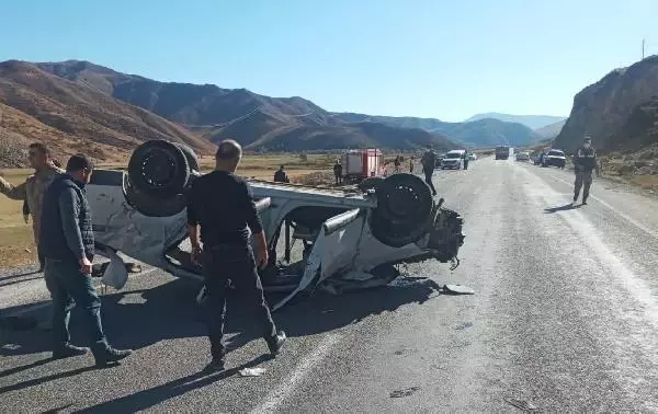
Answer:
<svg viewBox="0 0 658 414"><path fill-rule="evenodd" d="M190 180L184 151L166 140L147 141L131 156L128 176L140 194L167 199L182 194Z"/></svg>

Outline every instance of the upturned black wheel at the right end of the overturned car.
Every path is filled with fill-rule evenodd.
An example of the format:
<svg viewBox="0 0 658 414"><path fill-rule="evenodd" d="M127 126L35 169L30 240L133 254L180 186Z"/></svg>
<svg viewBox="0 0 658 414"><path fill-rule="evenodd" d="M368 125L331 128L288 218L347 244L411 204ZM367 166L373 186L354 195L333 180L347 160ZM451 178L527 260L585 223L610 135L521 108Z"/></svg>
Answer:
<svg viewBox="0 0 658 414"><path fill-rule="evenodd" d="M377 208L371 215L373 235L382 243L400 248L418 241L428 230L432 194L420 177L400 173L383 180L376 189Z"/></svg>

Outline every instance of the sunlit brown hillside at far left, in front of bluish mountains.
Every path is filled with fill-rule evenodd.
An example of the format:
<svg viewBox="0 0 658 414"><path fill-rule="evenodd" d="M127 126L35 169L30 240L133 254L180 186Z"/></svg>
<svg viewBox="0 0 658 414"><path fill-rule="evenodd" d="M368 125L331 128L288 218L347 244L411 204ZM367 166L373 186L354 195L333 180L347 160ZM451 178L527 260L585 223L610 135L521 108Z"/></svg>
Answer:
<svg viewBox="0 0 658 414"><path fill-rule="evenodd" d="M139 142L168 139L198 151L214 146L160 116L22 61L0 64L4 136L42 140L57 152L83 151L97 160L128 153ZM7 138L9 139L9 138Z"/></svg>

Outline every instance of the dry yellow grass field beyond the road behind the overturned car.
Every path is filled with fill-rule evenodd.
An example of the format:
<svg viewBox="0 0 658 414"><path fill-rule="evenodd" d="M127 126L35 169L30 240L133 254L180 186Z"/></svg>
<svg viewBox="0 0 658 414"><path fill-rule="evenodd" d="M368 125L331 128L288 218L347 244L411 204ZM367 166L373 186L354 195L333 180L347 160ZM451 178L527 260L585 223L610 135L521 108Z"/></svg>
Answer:
<svg viewBox="0 0 658 414"><path fill-rule="evenodd" d="M242 176L272 180L279 165L285 165L291 181L306 182L318 171L331 171L336 156L308 154L302 159L298 154L247 154L239 169ZM202 157L204 172L213 168L212 157ZM125 168L125 162L103 164L104 168ZM29 169L0 170L0 174L12 184L25 181ZM16 202L0 195L0 267L22 266L36 262L36 248L32 237L32 222L25 225L22 212L23 202Z"/></svg>

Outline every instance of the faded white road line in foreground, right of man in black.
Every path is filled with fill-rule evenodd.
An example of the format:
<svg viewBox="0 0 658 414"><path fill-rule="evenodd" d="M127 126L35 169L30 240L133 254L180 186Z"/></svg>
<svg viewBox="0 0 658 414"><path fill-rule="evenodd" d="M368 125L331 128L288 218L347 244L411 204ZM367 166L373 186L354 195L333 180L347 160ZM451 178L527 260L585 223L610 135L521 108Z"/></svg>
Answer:
<svg viewBox="0 0 658 414"><path fill-rule="evenodd" d="M265 401L257 406L252 413L273 413L295 391L298 383L310 373L316 365L327 357L331 348L341 340L341 335L332 333L327 335L314 352L302 361L290 377L277 389L270 392Z"/></svg>

